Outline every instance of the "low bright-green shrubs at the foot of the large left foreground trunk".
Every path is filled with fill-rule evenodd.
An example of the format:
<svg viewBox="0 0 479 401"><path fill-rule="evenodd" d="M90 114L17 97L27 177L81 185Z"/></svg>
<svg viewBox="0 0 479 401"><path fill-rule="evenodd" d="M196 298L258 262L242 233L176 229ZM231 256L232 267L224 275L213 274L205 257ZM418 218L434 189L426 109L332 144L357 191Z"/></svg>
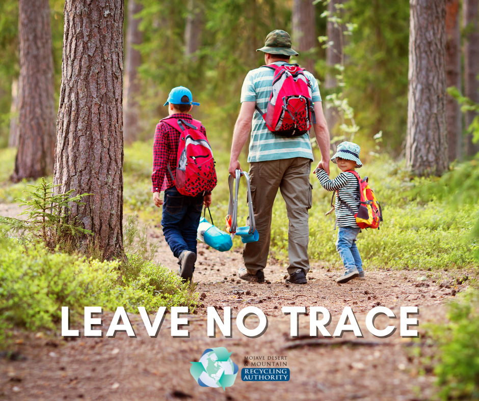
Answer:
<svg viewBox="0 0 479 401"><path fill-rule="evenodd" d="M16 240L0 241L0 338L12 324L29 330L54 328L61 307L83 313L84 306L105 310L138 306L195 307L198 294L161 265L128 255L135 274L121 275L119 261L99 262L78 255L51 253L42 244L24 248ZM3 343L3 341L0 341Z"/></svg>

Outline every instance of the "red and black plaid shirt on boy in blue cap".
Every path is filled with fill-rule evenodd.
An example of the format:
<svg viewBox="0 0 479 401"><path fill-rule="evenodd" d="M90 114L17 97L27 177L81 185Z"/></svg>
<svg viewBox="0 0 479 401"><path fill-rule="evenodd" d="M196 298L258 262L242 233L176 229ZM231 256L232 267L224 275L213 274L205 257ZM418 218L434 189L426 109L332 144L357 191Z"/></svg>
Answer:
<svg viewBox="0 0 479 401"><path fill-rule="evenodd" d="M176 113L170 116L192 122L191 114ZM206 136L203 125L200 131ZM151 192L161 192L175 185L171 179L167 165L170 163L171 173L176 178L176 154L178 153L178 141L180 132L168 125L159 122L156 125L155 139L153 142L153 174L151 175Z"/></svg>

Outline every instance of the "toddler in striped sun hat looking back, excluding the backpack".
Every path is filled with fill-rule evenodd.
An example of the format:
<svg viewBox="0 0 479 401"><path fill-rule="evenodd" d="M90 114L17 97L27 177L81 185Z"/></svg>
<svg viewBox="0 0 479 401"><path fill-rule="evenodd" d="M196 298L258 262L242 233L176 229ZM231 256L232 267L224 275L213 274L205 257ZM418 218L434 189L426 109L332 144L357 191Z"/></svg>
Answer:
<svg viewBox="0 0 479 401"><path fill-rule="evenodd" d="M361 228L356 224L354 215L359 209L359 183L356 176L350 171L362 166L359 160L361 148L353 142L342 142L338 145L337 151L331 158L337 163L341 173L334 180L330 180L326 171L318 164L316 177L327 191L336 191L336 202L334 210L336 213L336 225L338 238L336 250L341 256L345 272L336 281L339 283L348 282L353 278L364 280L361 256L356 246L356 239Z"/></svg>

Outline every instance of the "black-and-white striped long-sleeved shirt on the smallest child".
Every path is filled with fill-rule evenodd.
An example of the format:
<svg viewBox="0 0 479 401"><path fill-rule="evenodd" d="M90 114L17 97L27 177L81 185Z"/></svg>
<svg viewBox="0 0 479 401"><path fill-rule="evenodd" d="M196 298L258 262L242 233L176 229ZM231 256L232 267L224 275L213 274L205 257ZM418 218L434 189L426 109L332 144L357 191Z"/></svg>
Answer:
<svg viewBox="0 0 479 401"><path fill-rule="evenodd" d="M330 180L328 173L323 169L316 170L316 177L327 191L338 191L342 202L348 204L354 213L359 210L359 183L350 171L345 171L334 180ZM334 204L338 227L357 227L356 218L344 205L341 205L337 196Z"/></svg>

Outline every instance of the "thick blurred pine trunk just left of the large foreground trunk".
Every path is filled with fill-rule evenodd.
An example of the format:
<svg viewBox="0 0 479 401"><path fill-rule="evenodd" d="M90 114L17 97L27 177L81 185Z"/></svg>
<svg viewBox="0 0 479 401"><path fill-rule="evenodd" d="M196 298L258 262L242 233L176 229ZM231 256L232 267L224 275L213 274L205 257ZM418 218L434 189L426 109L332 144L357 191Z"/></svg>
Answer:
<svg viewBox="0 0 479 401"><path fill-rule="evenodd" d="M12 181L53 171L55 99L48 0L20 0L18 152Z"/></svg>

